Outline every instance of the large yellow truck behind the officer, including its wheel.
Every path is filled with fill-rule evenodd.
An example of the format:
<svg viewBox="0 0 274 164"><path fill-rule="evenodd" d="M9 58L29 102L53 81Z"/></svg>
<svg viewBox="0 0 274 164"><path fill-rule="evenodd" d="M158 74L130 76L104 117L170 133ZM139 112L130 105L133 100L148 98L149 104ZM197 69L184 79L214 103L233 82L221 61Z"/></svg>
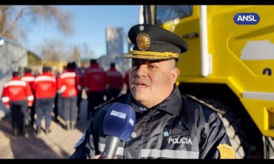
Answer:
<svg viewBox="0 0 274 164"><path fill-rule="evenodd" d="M274 5L142 5L189 45L177 85L220 109L236 158L274 158Z"/></svg>

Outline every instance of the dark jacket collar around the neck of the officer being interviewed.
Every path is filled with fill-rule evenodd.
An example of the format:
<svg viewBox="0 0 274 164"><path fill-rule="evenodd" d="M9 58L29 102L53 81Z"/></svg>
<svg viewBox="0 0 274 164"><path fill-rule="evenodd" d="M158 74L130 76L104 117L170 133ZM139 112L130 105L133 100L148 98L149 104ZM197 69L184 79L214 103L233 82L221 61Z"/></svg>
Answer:
<svg viewBox="0 0 274 164"><path fill-rule="evenodd" d="M127 95L127 98L130 99L127 102L132 102L132 107L137 113L143 113L145 111L145 107L142 107L139 102L136 102L131 93ZM177 115L182 107L182 104L183 101L179 92L179 88L174 85L173 91L171 92L171 95L169 95L169 97L160 102L160 104L155 105L150 109L147 109L147 111L151 109L158 109L160 111L166 111L167 113L171 113L172 115Z"/></svg>

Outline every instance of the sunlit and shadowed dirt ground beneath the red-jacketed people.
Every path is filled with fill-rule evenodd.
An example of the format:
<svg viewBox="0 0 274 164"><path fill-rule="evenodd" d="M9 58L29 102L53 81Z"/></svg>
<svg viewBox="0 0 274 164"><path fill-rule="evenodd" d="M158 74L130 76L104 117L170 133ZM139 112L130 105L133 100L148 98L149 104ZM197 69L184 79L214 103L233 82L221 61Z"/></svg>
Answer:
<svg viewBox="0 0 274 164"><path fill-rule="evenodd" d="M64 120L51 121L51 133L44 131L38 136L34 128L27 127L26 135L14 137L12 135L11 117L6 116L0 121L0 159L68 159L74 152L73 146L82 137L89 120L86 120L87 100L83 99L80 111L80 120L73 131L64 129ZM35 127L35 126L34 126ZM45 119L42 128L45 129Z"/></svg>

